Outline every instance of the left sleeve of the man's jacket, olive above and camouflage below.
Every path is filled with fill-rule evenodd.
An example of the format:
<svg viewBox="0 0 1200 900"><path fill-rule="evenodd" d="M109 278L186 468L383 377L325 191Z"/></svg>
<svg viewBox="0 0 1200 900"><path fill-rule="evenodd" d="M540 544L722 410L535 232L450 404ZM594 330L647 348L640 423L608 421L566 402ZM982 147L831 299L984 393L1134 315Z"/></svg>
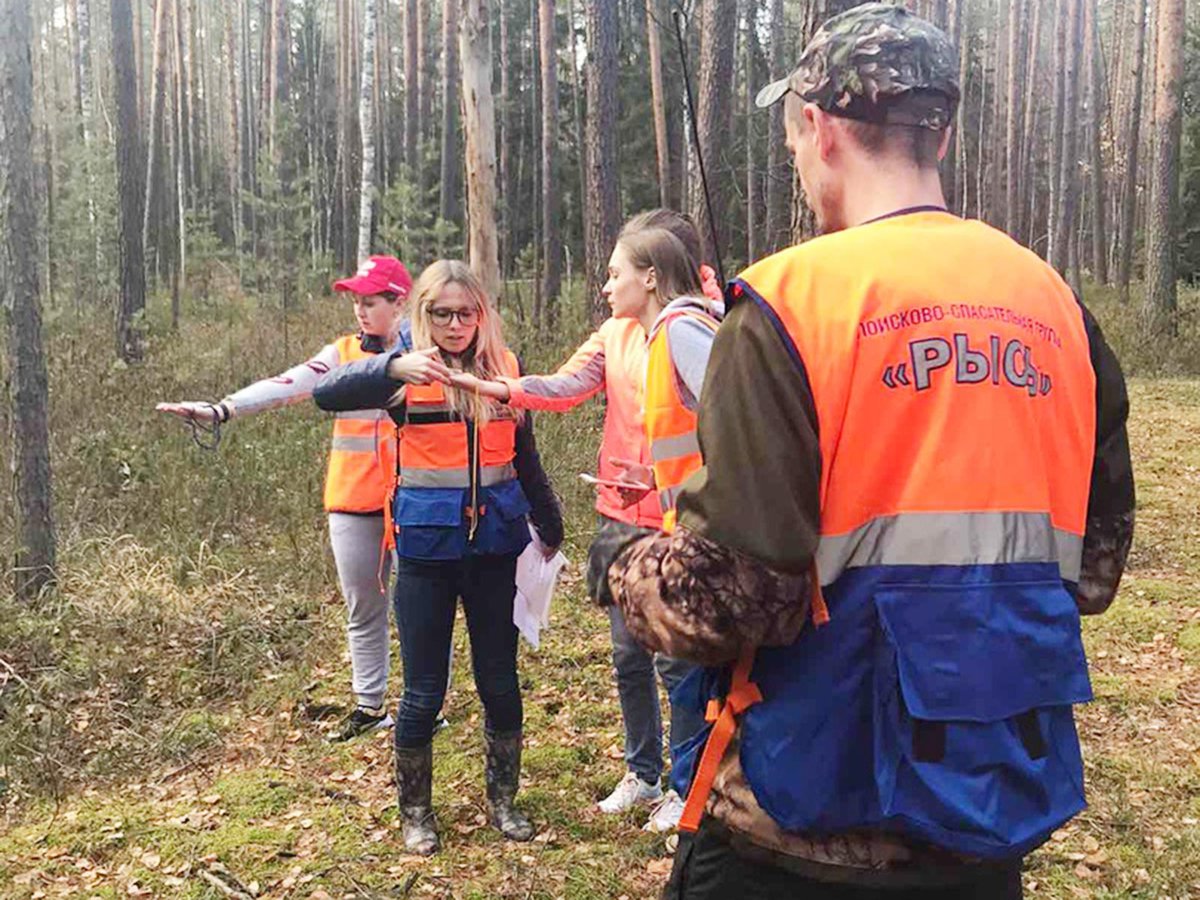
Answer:
<svg viewBox="0 0 1200 900"><path fill-rule="evenodd" d="M698 414L704 458L720 464L688 481L676 533L631 544L608 582L638 641L718 665L799 634L820 526L812 395L752 302L716 334Z"/></svg>

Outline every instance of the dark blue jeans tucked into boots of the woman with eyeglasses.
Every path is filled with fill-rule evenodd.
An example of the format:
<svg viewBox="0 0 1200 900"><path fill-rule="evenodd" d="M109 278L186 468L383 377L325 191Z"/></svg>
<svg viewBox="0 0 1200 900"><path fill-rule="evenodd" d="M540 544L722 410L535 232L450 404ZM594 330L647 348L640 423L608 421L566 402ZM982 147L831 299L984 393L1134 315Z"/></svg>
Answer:
<svg viewBox="0 0 1200 900"><path fill-rule="evenodd" d="M512 624L516 556L463 557L425 563L401 558L392 604L404 665L404 694L396 715L396 746L430 743L446 695L450 641L458 598L470 635L475 690L487 728L521 727L517 629Z"/></svg>

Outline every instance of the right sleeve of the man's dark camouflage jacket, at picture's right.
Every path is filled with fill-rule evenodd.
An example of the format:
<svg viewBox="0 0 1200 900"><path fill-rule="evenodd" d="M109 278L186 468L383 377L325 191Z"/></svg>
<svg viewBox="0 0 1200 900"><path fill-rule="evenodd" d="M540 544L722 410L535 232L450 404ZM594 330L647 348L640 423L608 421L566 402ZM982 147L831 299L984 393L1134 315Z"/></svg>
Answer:
<svg viewBox="0 0 1200 900"><path fill-rule="evenodd" d="M1116 354L1086 307L1084 324L1096 372L1096 456L1087 498L1087 530L1076 602L1085 614L1104 612L1116 596L1133 542L1134 485L1129 458L1129 397Z"/></svg>

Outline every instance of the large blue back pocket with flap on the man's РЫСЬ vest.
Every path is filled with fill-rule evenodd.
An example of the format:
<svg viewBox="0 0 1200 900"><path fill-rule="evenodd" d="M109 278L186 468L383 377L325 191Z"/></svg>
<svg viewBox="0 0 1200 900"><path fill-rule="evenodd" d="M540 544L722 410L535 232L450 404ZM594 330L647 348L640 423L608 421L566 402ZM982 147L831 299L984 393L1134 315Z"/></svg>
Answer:
<svg viewBox="0 0 1200 900"><path fill-rule="evenodd" d="M985 858L1042 844L1085 805L1074 599L1046 580L881 587L875 606L884 822Z"/></svg>

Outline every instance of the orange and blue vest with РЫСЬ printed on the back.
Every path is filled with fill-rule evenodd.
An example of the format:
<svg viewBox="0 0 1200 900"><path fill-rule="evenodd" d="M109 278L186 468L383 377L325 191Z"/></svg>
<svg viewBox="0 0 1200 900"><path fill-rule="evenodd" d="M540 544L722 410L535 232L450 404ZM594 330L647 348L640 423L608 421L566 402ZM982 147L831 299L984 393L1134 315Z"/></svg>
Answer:
<svg viewBox="0 0 1200 900"><path fill-rule="evenodd" d="M742 713L743 772L785 830L1027 852L1085 805L1096 378L1074 295L1002 233L931 210L786 250L731 293L811 388L830 619L744 659L716 731Z"/></svg>

